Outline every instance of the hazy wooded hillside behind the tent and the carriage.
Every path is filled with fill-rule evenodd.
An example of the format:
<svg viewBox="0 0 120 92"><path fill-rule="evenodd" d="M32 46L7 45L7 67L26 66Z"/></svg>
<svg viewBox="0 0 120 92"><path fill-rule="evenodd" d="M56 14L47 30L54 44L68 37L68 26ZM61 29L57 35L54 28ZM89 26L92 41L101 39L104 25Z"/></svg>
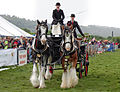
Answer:
<svg viewBox="0 0 120 92"><path fill-rule="evenodd" d="M27 28L31 30L31 32L35 31L36 21L26 20L24 18L9 16L9 15L1 15L1 16L20 28ZM50 28L50 24L48 24L48 26ZM84 33L90 33L92 35L108 37L112 35L112 31L113 31L114 36L120 36L120 28L104 27L104 26L96 26L96 25L81 26L81 28Z"/></svg>

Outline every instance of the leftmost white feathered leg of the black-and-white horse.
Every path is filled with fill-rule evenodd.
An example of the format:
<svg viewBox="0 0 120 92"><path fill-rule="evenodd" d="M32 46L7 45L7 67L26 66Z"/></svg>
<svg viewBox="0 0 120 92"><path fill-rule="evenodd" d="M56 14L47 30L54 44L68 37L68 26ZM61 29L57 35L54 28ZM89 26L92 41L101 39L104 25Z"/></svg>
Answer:
<svg viewBox="0 0 120 92"><path fill-rule="evenodd" d="M32 75L30 77L30 81L35 88L39 87L39 80L38 80L37 76L38 76L37 63L34 62L33 71L32 71Z"/></svg>

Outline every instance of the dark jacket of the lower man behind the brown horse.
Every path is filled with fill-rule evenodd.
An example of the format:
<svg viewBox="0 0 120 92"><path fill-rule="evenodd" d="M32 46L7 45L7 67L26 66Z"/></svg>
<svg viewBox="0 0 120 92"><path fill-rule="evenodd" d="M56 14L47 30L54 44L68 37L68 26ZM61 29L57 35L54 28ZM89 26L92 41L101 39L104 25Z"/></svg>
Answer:
<svg viewBox="0 0 120 92"><path fill-rule="evenodd" d="M73 25L73 29L74 29L74 28L77 28L78 31L80 32L80 34L81 34L82 36L84 36L84 34L83 34L80 26L78 25L78 22L77 22L77 21L74 21L73 23L72 23L71 21L68 21L68 22L67 22L67 25ZM74 31L74 37L77 38L76 30Z"/></svg>

